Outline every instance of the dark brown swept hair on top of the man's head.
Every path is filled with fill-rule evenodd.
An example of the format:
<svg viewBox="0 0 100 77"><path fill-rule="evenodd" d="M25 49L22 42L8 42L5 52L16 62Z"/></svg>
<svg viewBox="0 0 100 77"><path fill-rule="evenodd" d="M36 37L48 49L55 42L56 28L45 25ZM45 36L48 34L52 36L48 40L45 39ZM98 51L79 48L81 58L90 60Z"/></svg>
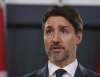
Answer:
<svg viewBox="0 0 100 77"><path fill-rule="evenodd" d="M76 33L83 31L83 21L81 16L75 9L69 6L50 7L43 16L42 25L45 24L50 16L62 16L72 24Z"/></svg>

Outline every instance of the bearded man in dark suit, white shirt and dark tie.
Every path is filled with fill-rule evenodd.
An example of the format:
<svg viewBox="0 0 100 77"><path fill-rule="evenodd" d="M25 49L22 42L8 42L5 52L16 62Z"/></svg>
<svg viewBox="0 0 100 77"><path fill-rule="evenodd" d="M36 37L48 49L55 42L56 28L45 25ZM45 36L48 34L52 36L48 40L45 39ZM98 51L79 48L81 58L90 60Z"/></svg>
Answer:
<svg viewBox="0 0 100 77"><path fill-rule="evenodd" d="M83 33L82 18L68 6L53 6L42 21L48 63L23 77L100 77L76 58Z"/></svg>

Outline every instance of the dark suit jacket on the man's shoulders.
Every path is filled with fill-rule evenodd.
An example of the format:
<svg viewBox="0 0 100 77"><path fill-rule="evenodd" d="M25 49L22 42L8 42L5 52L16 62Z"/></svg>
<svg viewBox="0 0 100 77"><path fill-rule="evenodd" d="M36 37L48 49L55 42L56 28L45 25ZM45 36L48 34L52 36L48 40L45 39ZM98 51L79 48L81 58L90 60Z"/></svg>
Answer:
<svg viewBox="0 0 100 77"><path fill-rule="evenodd" d="M49 77L48 73L48 65L46 64L44 67L33 71L32 73L26 74L22 77ZM100 77L95 72L86 69L81 64L78 64L78 67L75 72L75 77Z"/></svg>

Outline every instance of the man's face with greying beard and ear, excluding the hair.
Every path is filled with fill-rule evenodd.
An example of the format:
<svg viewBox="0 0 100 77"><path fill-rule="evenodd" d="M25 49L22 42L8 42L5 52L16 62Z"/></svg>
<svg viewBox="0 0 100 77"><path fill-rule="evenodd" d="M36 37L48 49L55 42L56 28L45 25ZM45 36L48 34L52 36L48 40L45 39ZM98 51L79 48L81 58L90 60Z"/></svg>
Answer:
<svg viewBox="0 0 100 77"><path fill-rule="evenodd" d="M51 16L44 24L44 45L52 62L67 61L76 57L76 47L81 41L72 24L62 16Z"/></svg>

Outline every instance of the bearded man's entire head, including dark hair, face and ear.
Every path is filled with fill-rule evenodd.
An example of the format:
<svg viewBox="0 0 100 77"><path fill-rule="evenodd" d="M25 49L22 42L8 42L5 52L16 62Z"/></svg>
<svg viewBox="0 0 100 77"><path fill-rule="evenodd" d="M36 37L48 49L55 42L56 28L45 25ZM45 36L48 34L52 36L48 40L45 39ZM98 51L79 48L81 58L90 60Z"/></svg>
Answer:
<svg viewBox="0 0 100 77"><path fill-rule="evenodd" d="M68 6L53 6L45 13L42 24L49 60L62 66L74 61L83 31L83 22L78 12Z"/></svg>

